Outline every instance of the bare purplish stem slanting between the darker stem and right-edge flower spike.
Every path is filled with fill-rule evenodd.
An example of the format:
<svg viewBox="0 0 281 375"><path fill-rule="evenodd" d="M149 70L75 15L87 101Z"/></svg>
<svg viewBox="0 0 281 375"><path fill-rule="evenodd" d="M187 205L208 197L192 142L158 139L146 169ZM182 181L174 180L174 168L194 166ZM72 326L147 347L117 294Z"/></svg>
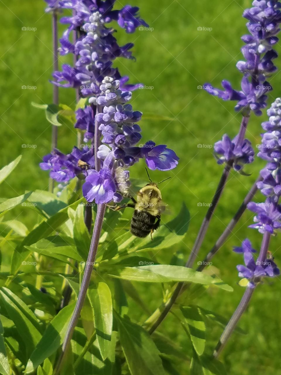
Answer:
<svg viewBox="0 0 281 375"><path fill-rule="evenodd" d="M208 262L212 259L212 257L214 257L214 255L220 250L221 246L223 246L223 244L226 242L228 236L230 235L230 233L232 233L235 225L238 223L238 221L241 219L242 214L245 212L247 208L247 204L253 199L254 195L256 194L257 183L261 180L262 180L262 176L259 176L259 178L257 178L257 180L254 182L253 186L251 187L251 190L245 196L244 201L242 202L238 211L234 215L233 219L229 222L226 229L224 229L224 232L221 234L220 238L212 247L211 251L206 255L204 261L201 262L199 267L197 267L196 269L197 271L203 271L203 269L206 267Z"/></svg>

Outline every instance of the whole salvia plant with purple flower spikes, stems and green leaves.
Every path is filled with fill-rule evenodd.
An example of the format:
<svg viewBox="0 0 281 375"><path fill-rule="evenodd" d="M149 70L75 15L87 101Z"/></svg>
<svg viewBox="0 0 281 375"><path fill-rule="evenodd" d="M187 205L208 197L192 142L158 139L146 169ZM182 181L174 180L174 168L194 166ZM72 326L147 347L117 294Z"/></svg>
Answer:
<svg viewBox="0 0 281 375"><path fill-rule="evenodd" d="M280 275L270 240L281 228L281 99L268 108L268 93L273 90L270 77L277 71L274 46L281 3L254 0L243 13L248 34L242 37L244 60L236 64L241 90L226 80L223 89L211 83L203 86L209 94L235 102L241 126L233 139L225 134L215 143L215 158L223 169L217 189L188 259L184 263L171 260L171 264L162 264L151 254L164 249L173 254L175 245L185 242L190 216L183 204L176 217L162 223L165 206L159 183L152 182L149 171L170 171L180 160L168 145L142 140L141 108L132 105L134 92L142 84L129 83L120 63L122 58L135 60L133 43L120 46L116 37L117 30L130 35L149 26L138 7L115 9L119 5L115 0L46 3L52 17L53 102L33 106L45 110L52 124L51 152L42 154L40 163L50 183L48 192L26 192L0 203L1 216L19 204L33 205L39 214L30 231L20 222L16 225L16 220L3 222L9 233L1 245L12 240L16 247L9 272L1 272L0 374L164 375L179 374L179 369L184 371L181 374L229 374L218 356L233 331L242 331L237 327L239 319L254 291L262 288L263 279ZM62 35L59 21L65 27ZM72 56L67 60L72 63L60 66L59 55ZM61 88L75 92L75 105L60 103ZM269 118L261 124L257 153L266 164L233 219L198 262L230 172L247 179L255 151L245 136L250 118L262 115L266 108ZM60 126L77 134L76 144L69 142L68 153L59 149ZM20 159L0 170L0 183ZM136 163L144 171L139 180L130 178ZM163 173L162 180L169 177ZM264 199L256 203L258 190ZM129 220L131 208L133 219ZM245 292L228 321L202 308L197 300L207 288L233 290L216 275L216 269L205 269L247 209L254 213L249 227L260 233L260 249L253 249L249 239L233 248L237 257L244 258L235 282ZM237 258L237 263L243 261ZM138 292L139 282L149 286L147 300ZM157 284L163 300L154 301L158 308L152 312L149 302L154 300ZM143 311L145 321L132 315L132 303ZM182 327L189 347L181 348L159 332L167 315ZM224 330L210 350L205 330L214 323Z"/></svg>

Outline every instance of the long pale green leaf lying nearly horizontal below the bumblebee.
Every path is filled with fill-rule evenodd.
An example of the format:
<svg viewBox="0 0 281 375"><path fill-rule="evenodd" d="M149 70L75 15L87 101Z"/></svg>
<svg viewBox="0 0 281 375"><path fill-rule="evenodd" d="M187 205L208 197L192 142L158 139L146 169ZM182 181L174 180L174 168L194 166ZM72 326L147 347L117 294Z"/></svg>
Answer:
<svg viewBox="0 0 281 375"><path fill-rule="evenodd" d="M202 285L215 285L221 289L232 291L233 289L221 280L212 278L202 272L197 272L187 267L170 266L168 264L154 264L141 267L111 267L109 276L132 281L143 282L169 282L183 281Z"/></svg>

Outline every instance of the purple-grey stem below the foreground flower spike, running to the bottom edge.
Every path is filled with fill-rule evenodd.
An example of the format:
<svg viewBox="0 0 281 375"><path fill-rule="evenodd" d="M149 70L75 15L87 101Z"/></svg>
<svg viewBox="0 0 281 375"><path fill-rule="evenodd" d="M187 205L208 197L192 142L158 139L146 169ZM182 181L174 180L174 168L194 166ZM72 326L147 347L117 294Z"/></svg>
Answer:
<svg viewBox="0 0 281 375"><path fill-rule="evenodd" d="M99 204L98 209L97 209L97 217L96 217L96 221L94 225L93 236L91 240L90 251L89 251L87 263L85 266L85 272L84 272L82 283L81 283L81 288L79 291L78 299L77 299L72 317L67 327L66 335L64 338L63 346L62 346L62 354L60 358L58 359L57 367L55 369L54 374L58 374L60 371L63 360L66 356L67 350L69 349L70 341L72 339L73 332L78 322L80 312L83 307L83 303L85 301L88 286L90 284L91 273L93 270L93 262L95 261L96 254L97 254L97 247L99 245L100 233L102 231L103 218L105 216L105 209L106 209L106 205L104 203Z"/></svg>

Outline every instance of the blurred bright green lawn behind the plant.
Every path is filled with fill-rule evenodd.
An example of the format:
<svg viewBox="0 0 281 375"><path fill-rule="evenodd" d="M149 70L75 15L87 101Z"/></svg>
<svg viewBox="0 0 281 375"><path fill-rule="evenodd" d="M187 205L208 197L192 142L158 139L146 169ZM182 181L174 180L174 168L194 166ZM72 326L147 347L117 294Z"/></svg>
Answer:
<svg viewBox="0 0 281 375"><path fill-rule="evenodd" d="M127 1L121 1L125 5ZM120 7L120 2L116 2ZM239 89L241 74L235 67L242 58L241 35L246 33L243 9L250 7L250 0L135 0L132 5L141 7L141 17L152 31L139 31L126 34L118 28L120 43L134 42L133 53L136 62L118 59L122 75L129 75L130 82L142 82L152 89L138 90L133 94L135 110L144 116L162 115L170 120L142 120L143 140L153 139L157 144L167 144L180 157L178 168L170 172L151 172L153 180L169 175L172 178L163 184L164 200L176 214L184 201L191 213L189 233L185 243L178 250L187 259L196 238L206 207L198 203L211 202L222 167L217 165L212 148L215 141L224 133L235 136L239 129L241 115L234 112L232 102L222 102L209 96L202 85L211 82L220 86L222 79L230 80ZM23 155L19 167L2 184L1 196L12 197L25 190L47 189L48 175L41 171L38 163L49 152L51 126L45 120L43 111L31 107L37 103L52 102L51 16L44 13L45 3L37 0L0 1L2 17L0 92L1 92L1 166ZM36 28L36 31L23 31L22 27ZM198 28L212 30L198 30ZM60 26L60 35L63 27ZM277 45L280 50L280 44ZM61 61L69 61L64 57ZM276 60L281 68L281 60ZM271 78L274 91L269 94L269 104L281 95L280 70ZM22 89L22 86L36 86L36 89ZM60 102L74 107L74 90L60 89ZM254 147L260 143L262 131L260 123L266 119L253 117L247 137ZM59 148L69 152L75 144L73 129L63 126L59 129ZM22 144L36 145L36 148L23 148ZM203 145L199 147L198 145ZM215 240L221 234L242 199L252 186L259 170L265 165L256 159L247 166L250 177L237 173L230 175L227 188L215 211L208 234L203 243L202 260ZM144 163L132 168L132 177L146 179ZM263 199L257 196L257 201ZM17 219L23 219L31 228L31 210L16 212ZM15 215L15 212L13 213ZM14 216L11 216L14 217ZM253 215L245 213L219 254L213 260L221 278L234 288L233 293L212 290L201 296L200 305L217 311L229 318L244 292L237 285L236 264L242 257L232 252L232 246L239 245L248 237L255 248L259 248L262 235L247 228ZM281 264L280 237L272 239L271 251L277 263ZM161 261L170 262L174 249L169 254L161 254ZM158 254L159 255L159 254ZM157 255L157 257L158 257ZM280 370L280 278L265 281L257 288L250 308L241 320L241 327L247 336L234 334L221 357L229 369L229 374L278 375ZM139 287L140 290L142 287ZM151 305L151 295L143 288L142 296ZM151 287L152 293L152 287ZM153 301L156 308L161 300ZM161 332L189 348L187 337L179 324L170 315L161 326ZM208 327L209 346L214 347L222 329ZM181 369L188 374L188 369Z"/></svg>

